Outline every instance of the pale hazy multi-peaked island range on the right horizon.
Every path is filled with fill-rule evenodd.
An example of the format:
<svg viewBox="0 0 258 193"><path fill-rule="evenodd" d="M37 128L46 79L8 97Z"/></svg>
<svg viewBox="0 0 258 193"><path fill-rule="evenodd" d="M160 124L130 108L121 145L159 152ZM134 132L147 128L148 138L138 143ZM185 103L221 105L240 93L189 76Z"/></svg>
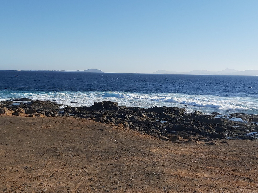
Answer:
<svg viewBox="0 0 258 193"><path fill-rule="evenodd" d="M222 71L207 71L207 70L192 70L190 72L169 72L166 70L158 70L152 74L197 74L197 75L243 75L243 76L258 76L258 70L238 71L235 69L226 68Z"/></svg>

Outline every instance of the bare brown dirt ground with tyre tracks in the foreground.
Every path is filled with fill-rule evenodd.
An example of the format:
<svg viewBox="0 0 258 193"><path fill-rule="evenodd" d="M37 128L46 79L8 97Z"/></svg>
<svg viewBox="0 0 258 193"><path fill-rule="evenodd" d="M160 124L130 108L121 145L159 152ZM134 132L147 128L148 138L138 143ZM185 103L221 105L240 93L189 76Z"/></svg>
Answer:
<svg viewBox="0 0 258 193"><path fill-rule="evenodd" d="M223 140L225 141L225 140ZM0 116L0 192L258 192L258 142L172 143L86 119Z"/></svg>

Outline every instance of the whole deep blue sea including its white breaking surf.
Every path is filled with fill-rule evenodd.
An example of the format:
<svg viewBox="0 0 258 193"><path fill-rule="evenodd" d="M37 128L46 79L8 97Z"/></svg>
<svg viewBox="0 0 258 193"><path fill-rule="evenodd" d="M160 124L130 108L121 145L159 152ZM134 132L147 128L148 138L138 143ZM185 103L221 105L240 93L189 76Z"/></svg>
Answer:
<svg viewBox="0 0 258 193"><path fill-rule="evenodd" d="M75 73L0 70L0 100L58 100L91 106L177 106L188 112L258 114L258 76ZM71 102L78 103L71 103Z"/></svg>

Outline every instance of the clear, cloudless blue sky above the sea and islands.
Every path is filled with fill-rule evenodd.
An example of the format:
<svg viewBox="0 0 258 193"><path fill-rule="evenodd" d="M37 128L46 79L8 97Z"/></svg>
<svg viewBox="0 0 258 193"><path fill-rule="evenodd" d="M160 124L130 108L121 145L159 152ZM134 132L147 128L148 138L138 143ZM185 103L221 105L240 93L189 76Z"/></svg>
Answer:
<svg viewBox="0 0 258 193"><path fill-rule="evenodd" d="M258 1L0 0L0 70L258 70Z"/></svg>

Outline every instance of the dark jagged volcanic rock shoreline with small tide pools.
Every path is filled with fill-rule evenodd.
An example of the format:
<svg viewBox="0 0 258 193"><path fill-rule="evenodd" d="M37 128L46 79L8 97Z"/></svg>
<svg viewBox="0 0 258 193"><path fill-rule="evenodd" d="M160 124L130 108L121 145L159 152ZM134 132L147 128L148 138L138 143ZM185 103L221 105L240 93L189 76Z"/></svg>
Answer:
<svg viewBox="0 0 258 193"><path fill-rule="evenodd" d="M18 102L17 102L18 101ZM118 106L117 102L103 101L90 107L60 108L56 101L12 99L0 102L0 114L17 116L72 116L122 126L172 142L204 141L215 144L222 139L258 141L258 115L234 113L222 115L200 111L187 113L178 107L138 108Z"/></svg>

